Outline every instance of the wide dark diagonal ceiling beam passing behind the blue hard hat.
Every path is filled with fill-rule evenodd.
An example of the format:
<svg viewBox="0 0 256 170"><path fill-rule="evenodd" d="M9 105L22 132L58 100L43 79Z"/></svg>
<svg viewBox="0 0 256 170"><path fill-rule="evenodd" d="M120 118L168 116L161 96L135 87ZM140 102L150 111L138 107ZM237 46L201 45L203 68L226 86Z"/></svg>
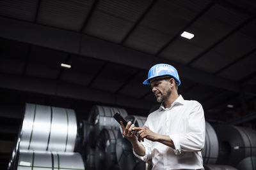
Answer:
<svg viewBox="0 0 256 170"><path fill-rule="evenodd" d="M79 32L66 31L6 17L0 17L0 23L0 38L44 46L62 52L83 55L145 70L148 70L157 63L168 63L177 68L181 79L186 78L196 83L239 92L239 85L236 81L205 73L177 62L159 59L159 57L154 55L138 52L137 50L80 34Z"/></svg>

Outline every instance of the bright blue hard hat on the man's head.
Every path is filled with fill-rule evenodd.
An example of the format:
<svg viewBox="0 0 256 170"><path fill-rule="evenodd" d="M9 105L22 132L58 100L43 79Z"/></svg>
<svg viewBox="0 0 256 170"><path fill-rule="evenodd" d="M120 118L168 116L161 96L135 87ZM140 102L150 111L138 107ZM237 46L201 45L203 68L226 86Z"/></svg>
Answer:
<svg viewBox="0 0 256 170"><path fill-rule="evenodd" d="M158 76L172 76L175 80L179 81L178 86L180 85L178 71L169 64L156 64L152 66L148 71L148 79L143 81L143 84L150 85L150 79Z"/></svg>

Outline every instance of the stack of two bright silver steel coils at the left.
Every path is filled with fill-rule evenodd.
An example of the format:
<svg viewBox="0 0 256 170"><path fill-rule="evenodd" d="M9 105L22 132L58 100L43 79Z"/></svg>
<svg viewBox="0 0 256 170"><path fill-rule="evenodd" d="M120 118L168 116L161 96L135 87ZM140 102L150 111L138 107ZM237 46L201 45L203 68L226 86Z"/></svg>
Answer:
<svg viewBox="0 0 256 170"><path fill-rule="evenodd" d="M76 136L74 110L26 104L9 169L84 169L81 155L73 153Z"/></svg>

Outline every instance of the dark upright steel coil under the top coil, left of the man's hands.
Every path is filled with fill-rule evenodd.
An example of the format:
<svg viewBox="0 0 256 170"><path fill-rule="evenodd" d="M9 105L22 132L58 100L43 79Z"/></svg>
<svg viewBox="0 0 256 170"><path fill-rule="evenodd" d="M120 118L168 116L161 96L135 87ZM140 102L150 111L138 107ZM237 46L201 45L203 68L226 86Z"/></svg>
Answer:
<svg viewBox="0 0 256 170"><path fill-rule="evenodd" d="M116 164L116 138L119 129L102 129L95 148L95 169L111 169Z"/></svg>

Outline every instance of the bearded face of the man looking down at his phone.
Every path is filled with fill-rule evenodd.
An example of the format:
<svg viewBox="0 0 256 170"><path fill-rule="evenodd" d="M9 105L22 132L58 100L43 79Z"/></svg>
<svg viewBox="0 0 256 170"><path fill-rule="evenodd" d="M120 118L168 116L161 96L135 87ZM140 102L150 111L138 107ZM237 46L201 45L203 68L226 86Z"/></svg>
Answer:
<svg viewBox="0 0 256 170"><path fill-rule="evenodd" d="M159 103L166 101L172 92L169 80L169 78L155 78L150 81L152 92Z"/></svg>

